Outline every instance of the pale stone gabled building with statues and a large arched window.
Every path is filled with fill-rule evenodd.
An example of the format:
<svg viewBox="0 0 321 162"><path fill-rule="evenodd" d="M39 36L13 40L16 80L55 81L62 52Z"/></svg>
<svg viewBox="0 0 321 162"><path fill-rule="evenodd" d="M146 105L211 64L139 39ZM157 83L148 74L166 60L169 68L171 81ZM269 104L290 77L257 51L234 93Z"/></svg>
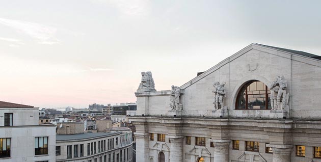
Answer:
<svg viewBox="0 0 321 162"><path fill-rule="evenodd" d="M320 59L250 44L166 91L142 72L137 161L321 161Z"/></svg>

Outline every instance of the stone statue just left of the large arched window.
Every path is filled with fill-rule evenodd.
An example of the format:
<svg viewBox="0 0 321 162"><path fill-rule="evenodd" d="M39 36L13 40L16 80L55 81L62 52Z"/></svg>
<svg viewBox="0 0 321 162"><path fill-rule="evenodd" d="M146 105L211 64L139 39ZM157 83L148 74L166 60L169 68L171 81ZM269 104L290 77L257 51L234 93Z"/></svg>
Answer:
<svg viewBox="0 0 321 162"><path fill-rule="evenodd" d="M215 105L215 110L222 109L224 107L224 100L223 100L225 96L224 86L225 86L225 83L220 84L220 82L216 82L213 84L213 87L215 88L215 90L212 91L215 94L215 98L213 102L213 104Z"/></svg>

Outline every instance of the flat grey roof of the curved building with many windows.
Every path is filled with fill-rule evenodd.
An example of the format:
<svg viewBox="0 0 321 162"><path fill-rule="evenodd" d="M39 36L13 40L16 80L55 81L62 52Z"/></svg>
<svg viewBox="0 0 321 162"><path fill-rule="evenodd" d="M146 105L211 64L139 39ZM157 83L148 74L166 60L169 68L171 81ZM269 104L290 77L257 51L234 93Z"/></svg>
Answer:
<svg viewBox="0 0 321 162"><path fill-rule="evenodd" d="M117 133L117 132L112 132L112 133L97 132L97 133L79 133L79 134L56 135L56 141L83 140L83 139L111 136L114 134L119 134L119 133Z"/></svg>

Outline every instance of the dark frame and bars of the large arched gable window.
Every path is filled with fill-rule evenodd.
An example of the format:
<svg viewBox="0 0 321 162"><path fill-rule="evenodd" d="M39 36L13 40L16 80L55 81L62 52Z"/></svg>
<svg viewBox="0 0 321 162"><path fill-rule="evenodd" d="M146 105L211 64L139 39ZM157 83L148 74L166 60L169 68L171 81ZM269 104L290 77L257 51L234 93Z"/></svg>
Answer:
<svg viewBox="0 0 321 162"><path fill-rule="evenodd" d="M237 96L236 96L236 101L235 101L235 110L271 110L271 107L270 107L270 98L269 98L269 95L270 95L270 90L268 88L268 86L266 86L264 84L264 82L261 82L263 83L263 85L265 85L265 109L248 109L248 95L251 95L251 94L248 94L248 87L254 83L254 82L261 82L260 80L249 80L247 83L245 83L237 92ZM238 100L239 100L239 96L240 96L240 93L242 93L242 90L245 88L245 109L238 109Z"/></svg>

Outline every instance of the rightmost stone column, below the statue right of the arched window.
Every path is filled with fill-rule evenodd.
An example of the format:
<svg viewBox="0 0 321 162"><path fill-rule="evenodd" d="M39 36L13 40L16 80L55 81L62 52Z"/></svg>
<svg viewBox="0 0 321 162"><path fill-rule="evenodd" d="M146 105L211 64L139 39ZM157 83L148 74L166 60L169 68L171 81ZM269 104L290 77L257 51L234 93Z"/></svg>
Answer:
<svg viewBox="0 0 321 162"><path fill-rule="evenodd" d="M290 162L292 145L271 145L273 150L273 162Z"/></svg>

